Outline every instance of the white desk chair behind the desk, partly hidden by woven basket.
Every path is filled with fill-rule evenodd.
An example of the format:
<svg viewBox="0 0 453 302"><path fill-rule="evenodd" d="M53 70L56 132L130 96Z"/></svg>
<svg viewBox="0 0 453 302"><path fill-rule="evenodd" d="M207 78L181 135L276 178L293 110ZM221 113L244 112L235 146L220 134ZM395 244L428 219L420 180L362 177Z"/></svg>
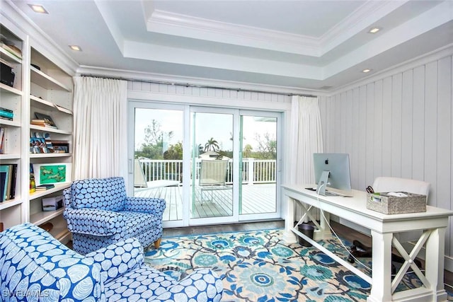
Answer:
<svg viewBox="0 0 453 302"><path fill-rule="evenodd" d="M406 178L391 178L391 177L378 177L373 182L374 192L408 192L413 194L422 194L426 195L426 201L428 202L428 193L430 192L430 183L424 182L422 180L410 180ZM411 240L417 240L420 238L421 231L413 231L408 233L397 233L394 234L394 237L400 242L408 242ZM352 255L357 257L371 257L371 248L360 243L359 240L354 240L353 248L360 248L365 252L360 252L358 250L352 250ZM401 262L403 260L398 255L393 255L394 260ZM353 262L350 258L350 262Z"/></svg>

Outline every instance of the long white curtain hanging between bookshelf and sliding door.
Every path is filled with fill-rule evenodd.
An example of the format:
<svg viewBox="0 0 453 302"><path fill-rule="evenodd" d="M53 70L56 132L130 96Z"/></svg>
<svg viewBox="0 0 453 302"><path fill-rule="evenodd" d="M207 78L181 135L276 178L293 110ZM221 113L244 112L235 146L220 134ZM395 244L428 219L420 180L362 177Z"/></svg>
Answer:
<svg viewBox="0 0 453 302"><path fill-rule="evenodd" d="M74 77L74 179L127 177L127 82Z"/></svg>

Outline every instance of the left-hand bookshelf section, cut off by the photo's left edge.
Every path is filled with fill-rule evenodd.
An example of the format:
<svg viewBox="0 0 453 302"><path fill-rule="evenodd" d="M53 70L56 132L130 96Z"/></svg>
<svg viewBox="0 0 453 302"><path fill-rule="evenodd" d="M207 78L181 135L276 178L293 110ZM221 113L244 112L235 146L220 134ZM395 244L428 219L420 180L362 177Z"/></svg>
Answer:
<svg viewBox="0 0 453 302"><path fill-rule="evenodd" d="M1 200L0 221L4 228L21 223L25 216L23 206L23 107L25 93L23 92L23 47L25 35L20 32L13 33L3 24L0 25L0 110L11 112L11 116L2 115L0 118L0 164L1 164ZM11 73L13 85L11 86ZM16 173L12 174L12 166L15 165ZM8 175L11 177L8 178ZM13 191L13 195L6 194Z"/></svg>

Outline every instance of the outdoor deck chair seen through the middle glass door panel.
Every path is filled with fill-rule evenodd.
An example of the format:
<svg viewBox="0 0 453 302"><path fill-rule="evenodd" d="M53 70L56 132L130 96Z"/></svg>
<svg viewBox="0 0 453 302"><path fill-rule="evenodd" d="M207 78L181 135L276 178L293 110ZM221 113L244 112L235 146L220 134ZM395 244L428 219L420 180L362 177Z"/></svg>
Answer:
<svg viewBox="0 0 453 302"><path fill-rule="evenodd" d="M231 186L226 185L226 172L228 170L228 161L221 160L202 160L200 167L200 185L201 203L203 204L203 192L214 190L231 190Z"/></svg>

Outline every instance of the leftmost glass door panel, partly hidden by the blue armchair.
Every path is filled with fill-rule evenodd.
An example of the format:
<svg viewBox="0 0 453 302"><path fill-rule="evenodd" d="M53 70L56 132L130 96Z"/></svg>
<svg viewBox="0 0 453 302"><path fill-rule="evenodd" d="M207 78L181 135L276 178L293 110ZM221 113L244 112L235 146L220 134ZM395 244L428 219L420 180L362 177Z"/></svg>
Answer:
<svg viewBox="0 0 453 302"><path fill-rule="evenodd" d="M135 108L134 196L166 200L164 221L183 219L183 111Z"/></svg>

